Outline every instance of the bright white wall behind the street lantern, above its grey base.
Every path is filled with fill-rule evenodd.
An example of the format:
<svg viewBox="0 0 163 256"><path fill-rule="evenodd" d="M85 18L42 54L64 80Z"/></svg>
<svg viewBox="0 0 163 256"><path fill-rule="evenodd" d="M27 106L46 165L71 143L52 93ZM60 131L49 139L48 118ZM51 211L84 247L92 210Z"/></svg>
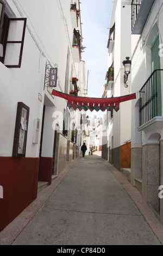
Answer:
<svg viewBox="0 0 163 256"><path fill-rule="evenodd" d="M124 1L123 1L124 2ZM124 87L123 60L131 58L131 7L129 4L123 8L122 1L115 1L112 11L111 25L115 23L114 51L109 56L108 63L114 60L114 87L108 96L123 96L131 93L131 78L129 76L128 88ZM109 67L108 67L109 68ZM109 145L112 148L120 147L131 139L131 102L120 103L120 110L113 112L112 123L109 124Z"/></svg>

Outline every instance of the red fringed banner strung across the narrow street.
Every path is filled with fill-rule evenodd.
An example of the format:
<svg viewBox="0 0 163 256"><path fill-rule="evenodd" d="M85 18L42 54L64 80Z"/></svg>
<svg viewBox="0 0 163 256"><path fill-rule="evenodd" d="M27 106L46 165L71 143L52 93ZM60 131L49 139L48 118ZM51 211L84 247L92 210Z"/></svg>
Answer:
<svg viewBox="0 0 163 256"><path fill-rule="evenodd" d="M128 100L136 99L136 93L124 95L120 97L110 97L110 98L93 98L93 97L80 97L74 96L66 93L58 92L53 90L52 95L61 97L62 99L67 100L67 106L73 109L84 109L85 111L90 109L91 111L118 111L120 103Z"/></svg>

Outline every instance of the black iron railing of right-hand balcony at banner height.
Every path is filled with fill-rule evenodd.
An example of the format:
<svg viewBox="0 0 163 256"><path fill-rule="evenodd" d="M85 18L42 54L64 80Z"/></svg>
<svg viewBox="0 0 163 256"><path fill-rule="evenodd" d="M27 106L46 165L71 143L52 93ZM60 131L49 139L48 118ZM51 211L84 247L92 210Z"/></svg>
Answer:
<svg viewBox="0 0 163 256"><path fill-rule="evenodd" d="M140 89L140 126L162 115L161 77L162 69L154 70Z"/></svg>

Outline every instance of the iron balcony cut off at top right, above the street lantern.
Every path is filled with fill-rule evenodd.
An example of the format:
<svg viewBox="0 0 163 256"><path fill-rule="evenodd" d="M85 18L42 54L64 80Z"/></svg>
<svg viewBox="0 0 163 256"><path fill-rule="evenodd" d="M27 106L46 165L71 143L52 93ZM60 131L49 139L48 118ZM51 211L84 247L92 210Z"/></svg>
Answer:
<svg viewBox="0 0 163 256"><path fill-rule="evenodd" d="M132 34L140 35L142 33L154 1L155 0L133 0L131 2Z"/></svg>

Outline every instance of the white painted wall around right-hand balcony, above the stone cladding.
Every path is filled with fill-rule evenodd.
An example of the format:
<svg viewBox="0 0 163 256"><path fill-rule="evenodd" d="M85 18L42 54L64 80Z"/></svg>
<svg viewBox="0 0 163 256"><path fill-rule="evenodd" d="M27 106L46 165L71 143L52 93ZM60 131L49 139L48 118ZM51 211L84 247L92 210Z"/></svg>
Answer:
<svg viewBox="0 0 163 256"><path fill-rule="evenodd" d="M131 125L131 147L140 147L142 144L141 131L139 127L139 90L152 74L151 64L151 46L159 33L160 44L163 38L163 16L162 16L162 2L155 1L151 14L143 29L141 35L131 35L131 49L132 49L132 70L131 83L132 92L137 93L137 99L132 101L132 118ZM160 48L161 49L161 48ZM163 59L160 57L161 69L163 67ZM155 131L157 125L155 126Z"/></svg>

